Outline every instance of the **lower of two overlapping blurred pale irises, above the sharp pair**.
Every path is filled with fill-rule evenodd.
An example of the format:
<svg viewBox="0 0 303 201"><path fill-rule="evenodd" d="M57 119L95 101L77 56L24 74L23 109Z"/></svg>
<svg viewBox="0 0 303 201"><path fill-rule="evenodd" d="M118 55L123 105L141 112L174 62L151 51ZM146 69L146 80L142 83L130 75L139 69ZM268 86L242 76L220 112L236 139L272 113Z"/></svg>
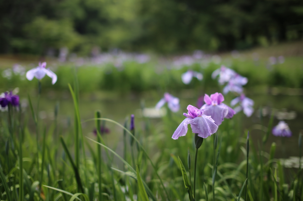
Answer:
<svg viewBox="0 0 303 201"><path fill-rule="evenodd" d="M234 77L232 77L229 81L228 84L224 87L223 93L227 94L229 91L236 92L238 94L241 94L243 92L243 85L246 85L248 82L248 79L239 75L235 74Z"/></svg>

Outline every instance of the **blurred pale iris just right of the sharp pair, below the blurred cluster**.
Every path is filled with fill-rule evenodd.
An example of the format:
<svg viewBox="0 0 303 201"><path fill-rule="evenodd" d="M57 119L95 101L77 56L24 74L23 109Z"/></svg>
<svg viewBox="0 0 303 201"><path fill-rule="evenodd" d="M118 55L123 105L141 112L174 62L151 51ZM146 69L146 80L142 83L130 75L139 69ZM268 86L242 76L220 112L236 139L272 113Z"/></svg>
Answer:
<svg viewBox="0 0 303 201"><path fill-rule="evenodd" d="M239 103L239 106L234 108L236 113L243 110L244 114L247 117L250 117L254 112L254 101L246 97L244 94L241 94L239 97L236 97L235 99L231 100L230 105L235 106L237 103Z"/></svg>

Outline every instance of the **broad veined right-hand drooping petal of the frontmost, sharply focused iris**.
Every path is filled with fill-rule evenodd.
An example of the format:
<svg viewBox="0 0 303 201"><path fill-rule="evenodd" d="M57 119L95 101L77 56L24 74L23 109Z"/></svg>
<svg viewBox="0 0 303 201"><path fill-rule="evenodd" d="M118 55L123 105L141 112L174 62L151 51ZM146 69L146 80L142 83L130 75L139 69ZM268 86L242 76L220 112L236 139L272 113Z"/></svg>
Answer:
<svg viewBox="0 0 303 201"><path fill-rule="evenodd" d="M197 116L194 119L188 120L188 123L191 125L192 132L198 133L198 136L201 138L211 136L211 134L214 134L218 129L215 121L206 115Z"/></svg>

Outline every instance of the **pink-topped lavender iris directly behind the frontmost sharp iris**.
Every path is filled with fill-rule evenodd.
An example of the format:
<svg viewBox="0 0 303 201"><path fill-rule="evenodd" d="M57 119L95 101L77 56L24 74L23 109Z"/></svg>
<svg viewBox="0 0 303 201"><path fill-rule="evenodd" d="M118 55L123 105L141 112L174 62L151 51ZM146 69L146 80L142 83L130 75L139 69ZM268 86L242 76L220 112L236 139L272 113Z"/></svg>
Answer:
<svg viewBox="0 0 303 201"><path fill-rule="evenodd" d="M224 97L221 93L211 94L210 97L205 94L204 102L205 104L200 108L204 110L204 114L211 116L215 123L219 126L224 118L230 119L234 116L235 111L222 103Z"/></svg>

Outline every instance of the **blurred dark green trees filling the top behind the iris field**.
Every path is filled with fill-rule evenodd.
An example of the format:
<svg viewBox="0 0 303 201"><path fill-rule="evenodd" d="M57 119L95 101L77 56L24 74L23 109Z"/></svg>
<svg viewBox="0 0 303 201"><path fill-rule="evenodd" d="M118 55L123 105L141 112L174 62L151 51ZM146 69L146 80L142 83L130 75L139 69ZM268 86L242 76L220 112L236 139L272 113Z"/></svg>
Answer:
<svg viewBox="0 0 303 201"><path fill-rule="evenodd" d="M0 53L247 49L302 39L302 21L300 0L1 0Z"/></svg>

